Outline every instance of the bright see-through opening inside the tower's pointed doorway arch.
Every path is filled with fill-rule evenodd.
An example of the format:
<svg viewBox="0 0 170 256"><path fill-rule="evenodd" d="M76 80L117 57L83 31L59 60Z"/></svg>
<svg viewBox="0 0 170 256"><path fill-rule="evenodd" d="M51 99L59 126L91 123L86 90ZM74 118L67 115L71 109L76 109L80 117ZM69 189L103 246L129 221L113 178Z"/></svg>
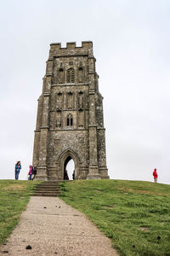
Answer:
<svg viewBox="0 0 170 256"><path fill-rule="evenodd" d="M73 179L75 179L75 162L69 155L65 159L64 180L73 180Z"/></svg>

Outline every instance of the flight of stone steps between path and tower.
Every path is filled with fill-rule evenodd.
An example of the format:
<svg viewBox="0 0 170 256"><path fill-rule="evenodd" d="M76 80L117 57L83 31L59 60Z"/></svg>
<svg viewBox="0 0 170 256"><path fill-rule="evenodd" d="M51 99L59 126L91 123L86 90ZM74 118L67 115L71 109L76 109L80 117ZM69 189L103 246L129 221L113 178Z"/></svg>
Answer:
<svg viewBox="0 0 170 256"><path fill-rule="evenodd" d="M43 182L34 190L36 196L58 196L60 194L59 181Z"/></svg>

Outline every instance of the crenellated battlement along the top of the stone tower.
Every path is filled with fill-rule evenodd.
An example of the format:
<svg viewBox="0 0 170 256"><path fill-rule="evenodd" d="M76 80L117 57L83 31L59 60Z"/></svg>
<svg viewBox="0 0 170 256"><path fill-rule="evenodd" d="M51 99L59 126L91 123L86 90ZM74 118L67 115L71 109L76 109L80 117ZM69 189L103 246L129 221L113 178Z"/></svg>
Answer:
<svg viewBox="0 0 170 256"><path fill-rule="evenodd" d="M77 47L76 42L66 43L66 47L61 47L61 43L52 43L50 44L51 49L92 49L93 42L92 41L82 41L82 46Z"/></svg>

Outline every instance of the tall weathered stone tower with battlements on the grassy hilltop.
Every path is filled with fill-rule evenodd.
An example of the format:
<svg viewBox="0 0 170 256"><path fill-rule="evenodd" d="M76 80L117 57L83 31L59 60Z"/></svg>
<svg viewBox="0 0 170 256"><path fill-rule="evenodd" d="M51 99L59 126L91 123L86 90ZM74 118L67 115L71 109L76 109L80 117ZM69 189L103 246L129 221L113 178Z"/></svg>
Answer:
<svg viewBox="0 0 170 256"><path fill-rule="evenodd" d="M71 159L75 179L109 178L95 61L90 41L50 44L34 138L37 179L63 180Z"/></svg>

